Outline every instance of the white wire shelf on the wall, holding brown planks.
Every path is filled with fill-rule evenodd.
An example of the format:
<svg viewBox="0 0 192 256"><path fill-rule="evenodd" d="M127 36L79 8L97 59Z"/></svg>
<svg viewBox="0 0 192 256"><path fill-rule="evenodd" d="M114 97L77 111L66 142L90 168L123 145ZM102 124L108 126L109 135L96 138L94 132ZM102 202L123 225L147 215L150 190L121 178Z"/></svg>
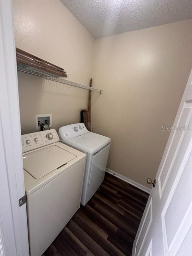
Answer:
<svg viewBox="0 0 192 256"><path fill-rule="evenodd" d="M46 72L39 71L36 68L31 68L30 66L23 65L23 64L22 65L19 64L17 66L17 70L21 71L21 72L28 73L28 74L32 74L32 75L35 75L35 76L40 76L40 77L43 77L47 80L51 80L51 81L58 82L58 83L61 83L61 84L68 84L68 85L79 87L79 88L82 88L82 89L91 90L93 92L102 93L102 91L103 91L103 90L96 89L96 88L93 88L93 87L90 87L90 86L87 86L87 85L84 85L84 84L74 83L74 82L69 81L67 79L61 79L61 78L58 78L56 76L50 76Z"/></svg>

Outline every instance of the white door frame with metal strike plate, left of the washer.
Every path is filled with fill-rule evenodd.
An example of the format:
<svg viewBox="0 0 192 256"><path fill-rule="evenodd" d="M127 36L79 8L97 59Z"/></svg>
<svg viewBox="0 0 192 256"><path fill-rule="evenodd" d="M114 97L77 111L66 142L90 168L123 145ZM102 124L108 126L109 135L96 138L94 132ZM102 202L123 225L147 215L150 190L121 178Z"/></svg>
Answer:
<svg viewBox="0 0 192 256"><path fill-rule="evenodd" d="M12 1L0 0L0 256L28 256Z"/></svg>

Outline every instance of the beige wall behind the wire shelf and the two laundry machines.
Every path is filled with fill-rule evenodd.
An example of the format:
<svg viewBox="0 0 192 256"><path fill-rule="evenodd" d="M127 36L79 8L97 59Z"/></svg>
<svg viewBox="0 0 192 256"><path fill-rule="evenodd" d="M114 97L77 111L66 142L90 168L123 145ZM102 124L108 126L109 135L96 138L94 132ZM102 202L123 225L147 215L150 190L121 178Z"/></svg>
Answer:
<svg viewBox="0 0 192 256"><path fill-rule="evenodd" d="M89 85L94 39L59 0L13 0L16 47L64 68ZM52 113L53 128L80 121L88 91L18 72L22 133L35 132L35 114Z"/></svg>

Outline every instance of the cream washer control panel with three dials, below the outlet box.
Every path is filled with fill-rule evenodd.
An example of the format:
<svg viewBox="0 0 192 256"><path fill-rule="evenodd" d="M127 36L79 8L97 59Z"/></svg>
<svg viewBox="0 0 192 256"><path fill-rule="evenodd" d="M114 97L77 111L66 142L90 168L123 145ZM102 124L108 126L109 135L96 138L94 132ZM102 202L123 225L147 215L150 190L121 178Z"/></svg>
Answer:
<svg viewBox="0 0 192 256"><path fill-rule="evenodd" d="M59 136L55 129L23 134L21 135L22 152L44 147L58 141Z"/></svg>

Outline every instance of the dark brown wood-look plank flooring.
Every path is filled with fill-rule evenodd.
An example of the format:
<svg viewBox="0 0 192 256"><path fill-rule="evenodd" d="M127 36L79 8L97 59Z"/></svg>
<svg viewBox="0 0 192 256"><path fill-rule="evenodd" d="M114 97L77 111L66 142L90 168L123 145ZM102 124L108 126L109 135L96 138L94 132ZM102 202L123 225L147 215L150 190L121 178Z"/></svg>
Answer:
<svg viewBox="0 0 192 256"><path fill-rule="evenodd" d="M132 244L148 194L108 173L44 256L123 256Z"/></svg>

